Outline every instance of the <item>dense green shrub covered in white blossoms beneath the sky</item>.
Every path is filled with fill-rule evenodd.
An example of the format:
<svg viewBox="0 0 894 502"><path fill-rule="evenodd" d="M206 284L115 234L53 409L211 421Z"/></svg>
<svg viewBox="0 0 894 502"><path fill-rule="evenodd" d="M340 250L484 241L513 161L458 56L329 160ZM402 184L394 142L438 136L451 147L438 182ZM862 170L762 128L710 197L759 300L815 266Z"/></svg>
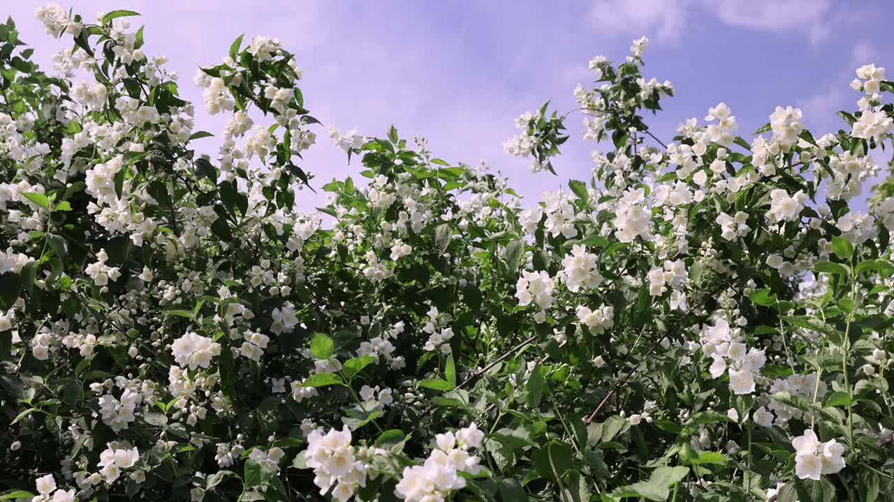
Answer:
<svg viewBox="0 0 894 502"><path fill-rule="evenodd" d="M368 182L317 184L275 38L198 71L198 155L136 13L37 15L73 44L50 77L0 25L0 500L894 500L894 203L848 203L884 69L838 131L664 143L638 39L574 91L591 179L523 205L394 128L330 130ZM556 172L568 117L507 151Z"/></svg>

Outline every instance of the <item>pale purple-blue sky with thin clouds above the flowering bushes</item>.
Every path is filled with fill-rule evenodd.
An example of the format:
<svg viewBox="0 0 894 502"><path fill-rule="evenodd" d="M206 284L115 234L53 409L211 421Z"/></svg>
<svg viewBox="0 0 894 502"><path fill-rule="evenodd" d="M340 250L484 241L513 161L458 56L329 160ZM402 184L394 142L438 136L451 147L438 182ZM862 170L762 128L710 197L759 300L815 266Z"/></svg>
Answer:
<svg viewBox="0 0 894 502"><path fill-rule="evenodd" d="M36 46L35 60L51 70L63 45L34 19L44 2L4 2L21 38ZM587 179L592 143L574 138L555 164L558 177L528 172L527 160L502 151L515 134L513 119L547 99L561 111L575 106L571 90L589 83L586 63L596 54L619 61L632 38L646 35L645 77L670 79L677 96L649 123L665 140L689 117L725 101L739 133L763 125L776 105L797 105L814 136L844 122L838 110L856 110L848 88L856 66L887 64L894 54L887 29L894 4L831 0L590 0L562 2L232 2L231 0L61 3L86 19L99 10L130 9L146 25L145 51L165 54L181 72L181 96L197 104L196 130L223 129L209 117L192 84L199 65L221 61L232 40L278 37L303 70L305 104L325 126L358 128L384 136L426 136L434 155L451 162L487 160L510 176L527 204L545 189ZM556 5L561 5L557 8ZM67 42L66 42L67 45ZM894 68L890 68L894 73ZM891 76L891 75L890 75ZM353 175L358 166L319 131L305 155L314 185ZM215 156L217 138L196 142ZM881 156L877 157L881 162ZM307 194L310 205L321 197ZM300 197L299 197L300 198ZM300 204L300 203L299 203ZM302 204L303 205L303 204Z"/></svg>

